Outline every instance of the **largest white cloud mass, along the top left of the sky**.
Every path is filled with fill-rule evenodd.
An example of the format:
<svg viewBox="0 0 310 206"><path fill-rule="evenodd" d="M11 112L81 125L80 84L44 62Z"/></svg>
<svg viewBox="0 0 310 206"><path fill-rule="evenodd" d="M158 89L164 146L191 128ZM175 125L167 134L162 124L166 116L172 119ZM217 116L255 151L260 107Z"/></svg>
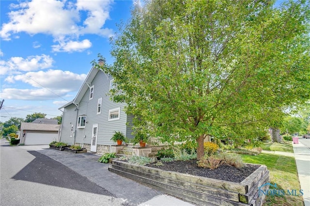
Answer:
<svg viewBox="0 0 310 206"><path fill-rule="evenodd" d="M10 21L2 24L0 36L10 40L12 34L27 32L31 35L46 33L54 38L82 34L97 34L110 37L111 29L103 28L109 19L112 0L32 0L11 4ZM82 15L83 14L83 15ZM80 16L87 16L82 21Z"/></svg>

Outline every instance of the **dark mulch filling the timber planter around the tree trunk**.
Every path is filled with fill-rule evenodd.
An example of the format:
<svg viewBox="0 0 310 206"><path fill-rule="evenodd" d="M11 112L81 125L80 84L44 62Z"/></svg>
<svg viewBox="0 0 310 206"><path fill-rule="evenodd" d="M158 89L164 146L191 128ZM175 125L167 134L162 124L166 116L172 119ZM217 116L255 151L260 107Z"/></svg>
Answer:
<svg viewBox="0 0 310 206"><path fill-rule="evenodd" d="M192 174L237 183L242 182L246 177L248 177L260 167L259 165L253 164L245 164L242 168L235 168L230 165L221 165L217 169L211 170L208 168L198 167L196 159L187 161L163 162L162 166L156 166L155 164L156 163L151 163L146 166L158 168L161 170Z"/></svg>

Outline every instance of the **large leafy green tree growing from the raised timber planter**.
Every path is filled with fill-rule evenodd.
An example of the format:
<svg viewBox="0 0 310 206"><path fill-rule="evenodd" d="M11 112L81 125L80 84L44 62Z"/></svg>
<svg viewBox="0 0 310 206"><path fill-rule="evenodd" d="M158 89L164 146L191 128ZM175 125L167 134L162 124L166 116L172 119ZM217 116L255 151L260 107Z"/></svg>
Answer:
<svg viewBox="0 0 310 206"><path fill-rule="evenodd" d="M309 5L290 1L151 0L112 40L115 101L135 129L163 141L254 140L309 98ZM100 56L100 58L102 58Z"/></svg>

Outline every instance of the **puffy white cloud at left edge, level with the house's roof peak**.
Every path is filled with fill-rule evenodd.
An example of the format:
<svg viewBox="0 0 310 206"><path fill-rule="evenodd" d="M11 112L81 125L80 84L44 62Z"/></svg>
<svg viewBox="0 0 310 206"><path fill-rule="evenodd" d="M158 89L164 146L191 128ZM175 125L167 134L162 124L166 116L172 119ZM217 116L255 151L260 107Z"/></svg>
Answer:
<svg viewBox="0 0 310 206"><path fill-rule="evenodd" d="M26 59L22 57L11 57L8 61L0 61L0 74L12 75L18 71L36 71L46 69L53 64L53 58L42 54L40 56L29 56Z"/></svg>

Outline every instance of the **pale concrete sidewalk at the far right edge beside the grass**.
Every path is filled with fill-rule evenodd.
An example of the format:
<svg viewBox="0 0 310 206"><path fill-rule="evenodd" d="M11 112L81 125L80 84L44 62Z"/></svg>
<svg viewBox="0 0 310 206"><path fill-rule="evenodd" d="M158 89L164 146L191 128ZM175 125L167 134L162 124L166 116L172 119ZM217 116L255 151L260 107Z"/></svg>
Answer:
<svg viewBox="0 0 310 206"><path fill-rule="evenodd" d="M295 162L305 206L310 206L310 149L298 142L293 144Z"/></svg>

